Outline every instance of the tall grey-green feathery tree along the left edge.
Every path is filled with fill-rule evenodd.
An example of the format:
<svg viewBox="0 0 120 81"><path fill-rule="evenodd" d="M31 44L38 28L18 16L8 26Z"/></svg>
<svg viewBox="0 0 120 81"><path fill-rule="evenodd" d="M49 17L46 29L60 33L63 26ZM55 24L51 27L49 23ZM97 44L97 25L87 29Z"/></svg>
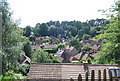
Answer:
<svg viewBox="0 0 120 81"><path fill-rule="evenodd" d="M1 8L2 16L2 73L9 70L18 71L18 60L24 54L23 42L26 41L23 33L17 24L11 20L8 3L3 1Z"/></svg>

